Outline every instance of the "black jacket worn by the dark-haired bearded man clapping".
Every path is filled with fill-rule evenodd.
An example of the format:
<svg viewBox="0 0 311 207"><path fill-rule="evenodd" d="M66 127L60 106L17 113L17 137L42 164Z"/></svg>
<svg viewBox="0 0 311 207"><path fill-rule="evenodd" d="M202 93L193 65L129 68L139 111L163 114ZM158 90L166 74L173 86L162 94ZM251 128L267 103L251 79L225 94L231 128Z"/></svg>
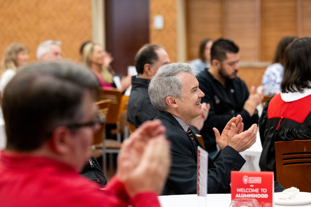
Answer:
<svg viewBox="0 0 311 207"><path fill-rule="evenodd" d="M245 101L248 99L249 92L243 80L236 77L226 81L226 88L219 83L209 72L208 69L202 71L197 77L199 88L205 94L201 102L211 105L207 119L200 132L204 139L207 151L216 150L216 140L213 127L220 132L225 128L227 122L234 116L241 115L243 118L244 129L248 129L252 124L258 123L257 111L250 117L248 112L243 109Z"/></svg>

